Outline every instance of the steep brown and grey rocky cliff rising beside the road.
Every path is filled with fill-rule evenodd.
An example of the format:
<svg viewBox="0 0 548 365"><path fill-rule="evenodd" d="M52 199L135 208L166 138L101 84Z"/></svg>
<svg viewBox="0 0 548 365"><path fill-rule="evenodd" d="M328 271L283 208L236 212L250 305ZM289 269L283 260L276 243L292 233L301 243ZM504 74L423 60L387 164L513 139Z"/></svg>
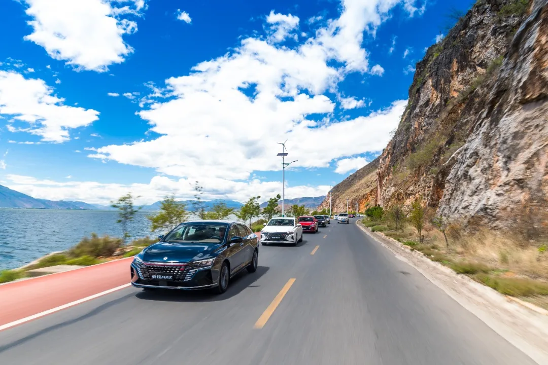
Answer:
<svg viewBox="0 0 548 365"><path fill-rule="evenodd" d="M417 63L375 182L339 184L336 205L420 199L493 225L546 211L547 42L548 0L477 1Z"/></svg>

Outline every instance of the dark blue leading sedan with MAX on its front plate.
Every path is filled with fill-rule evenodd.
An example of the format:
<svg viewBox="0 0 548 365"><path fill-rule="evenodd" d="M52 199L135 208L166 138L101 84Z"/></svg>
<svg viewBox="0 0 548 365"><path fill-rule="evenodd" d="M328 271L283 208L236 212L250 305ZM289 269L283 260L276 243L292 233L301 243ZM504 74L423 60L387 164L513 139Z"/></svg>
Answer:
<svg viewBox="0 0 548 365"><path fill-rule="evenodd" d="M233 221L179 224L159 242L136 254L132 285L138 288L207 289L224 293L231 277L257 270L258 237Z"/></svg>

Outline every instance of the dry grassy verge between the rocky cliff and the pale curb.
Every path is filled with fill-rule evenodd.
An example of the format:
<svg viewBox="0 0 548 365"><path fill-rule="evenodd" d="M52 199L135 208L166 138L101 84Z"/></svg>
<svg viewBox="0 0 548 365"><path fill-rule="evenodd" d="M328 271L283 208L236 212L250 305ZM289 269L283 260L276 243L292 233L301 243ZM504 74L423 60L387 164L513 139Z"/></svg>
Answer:
<svg viewBox="0 0 548 365"><path fill-rule="evenodd" d="M447 230L449 247L446 247L443 234L430 224L423 232L424 244L418 243L416 230L408 226L402 230L386 230L383 234L456 273L548 309L547 242L524 241L519 233L512 231L477 229L467 233L458 225L452 225Z"/></svg>

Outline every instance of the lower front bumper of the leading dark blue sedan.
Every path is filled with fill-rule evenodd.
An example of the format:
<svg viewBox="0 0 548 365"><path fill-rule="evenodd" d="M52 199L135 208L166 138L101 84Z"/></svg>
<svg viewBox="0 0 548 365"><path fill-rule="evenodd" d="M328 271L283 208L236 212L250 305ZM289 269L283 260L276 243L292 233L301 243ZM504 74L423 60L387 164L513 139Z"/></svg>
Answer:
<svg viewBox="0 0 548 365"><path fill-rule="evenodd" d="M161 288L161 289L179 289L179 290L199 290L214 288L219 285L218 280L213 278L214 275L212 268L197 268L193 272L192 269L185 271L184 279L174 278L173 280L156 280L151 276L144 275L142 268L138 268L135 263L131 265L131 283L136 288ZM186 280L186 277L189 277Z"/></svg>

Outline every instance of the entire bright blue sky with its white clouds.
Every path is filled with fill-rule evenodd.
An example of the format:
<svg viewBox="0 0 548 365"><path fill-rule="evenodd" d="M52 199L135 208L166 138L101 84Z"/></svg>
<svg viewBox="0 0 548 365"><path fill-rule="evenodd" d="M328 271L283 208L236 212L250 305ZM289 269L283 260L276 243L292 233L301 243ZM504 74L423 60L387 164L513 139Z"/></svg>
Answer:
<svg viewBox="0 0 548 365"><path fill-rule="evenodd" d="M323 195L374 159L413 68L462 0L0 0L0 184L105 203L128 191ZM62 9L62 10L60 10Z"/></svg>

